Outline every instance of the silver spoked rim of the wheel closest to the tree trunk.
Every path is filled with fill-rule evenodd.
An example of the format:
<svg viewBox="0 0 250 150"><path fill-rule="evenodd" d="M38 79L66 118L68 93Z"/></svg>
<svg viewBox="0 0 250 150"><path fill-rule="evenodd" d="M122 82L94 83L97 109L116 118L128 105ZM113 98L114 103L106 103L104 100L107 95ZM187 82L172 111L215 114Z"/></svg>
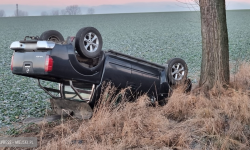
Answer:
<svg viewBox="0 0 250 150"><path fill-rule="evenodd" d="M181 80L184 75L185 75L185 69L184 69L184 66L181 64L181 63L175 63L173 66L172 66L172 72L171 72L171 75L172 77L179 81Z"/></svg>

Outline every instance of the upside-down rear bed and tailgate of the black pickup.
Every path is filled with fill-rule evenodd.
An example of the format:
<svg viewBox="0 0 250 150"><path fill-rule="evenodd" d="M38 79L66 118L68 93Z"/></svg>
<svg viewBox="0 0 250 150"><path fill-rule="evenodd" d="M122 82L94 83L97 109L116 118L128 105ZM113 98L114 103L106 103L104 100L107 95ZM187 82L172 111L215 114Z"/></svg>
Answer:
<svg viewBox="0 0 250 150"><path fill-rule="evenodd" d="M55 44L53 48L44 47L43 49L37 48L38 44L35 44L37 43L26 43L23 49L12 46L12 49L15 50L12 61L13 74L58 83L68 80L99 83L104 63L103 54L99 58L98 65L89 68L88 64L78 61L71 44ZM53 60L51 71L45 69L48 56Z"/></svg>

